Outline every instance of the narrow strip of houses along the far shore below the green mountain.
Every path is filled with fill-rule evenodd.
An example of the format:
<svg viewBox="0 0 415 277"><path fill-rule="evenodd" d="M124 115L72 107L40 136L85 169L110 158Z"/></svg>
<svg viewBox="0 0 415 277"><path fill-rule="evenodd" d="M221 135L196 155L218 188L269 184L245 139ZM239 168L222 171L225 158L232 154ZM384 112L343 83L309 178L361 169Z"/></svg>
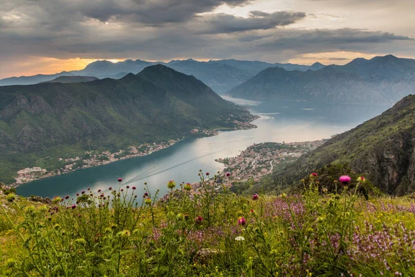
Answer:
<svg viewBox="0 0 415 277"><path fill-rule="evenodd" d="M15 178L16 182L6 185L8 188L17 188L21 185L28 184L33 181L38 181L40 179L46 179L50 177L56 177L59 175L65 175L71 172L75 172L77 170L82 170L86 168L93 168L97 166L104 166L109 163L114 163L116 161L121 161L124 159L131 159L135 157L145 157L150 154L153 154L154 152L158 152L159 150L163 150L166 148L169 148L173 145L175 145L178 142L181 142L185 139L194 137L194 138L203 138L203 137L210 137L210 136L216 136L220 132L227 132L227 131L236 131L236 130L243 130L243 129L255 129L257 128L256 125L252 124L252 121L259 118L259 116L252 116L249 121L246 122L235 122L236 126L233 128L217 128L217 129L192 129L192 131L189 132L189 134L183 136L181 139L172 139L164 143L143 143L142 145L139 145L138 148L134 146L129 146L128 148L124 148L122 150L118 150L117 152L107 152L103 151L100 154L95 154L94 158L97 159L99 157L104 157L104 155L107 155L107 159L105 160L95 160L91 161L91 159L82 159L82 157L75 157L75 158L68 158L64 161L73 162L70 164L67 164L63 166L62 168L56 169L56 170L46 170L42 169L40 167L33 167L33 168L24 168L22 170L19 170L17 172L18 177ZM138 151L138 149L142 147L147 147L145 150ZM115 157L120 154L124 154L125 152L130 151L129 154L125 154L122 157ZM131 152L132 151L132 152ZM91 151L86 151L85 154L91 154ZM109 158L108 158L109 157ZM62 158L59 158L62 160ZM78 166L76 168L72 168L72 166L75 166L77 163L81 163L82 166Z"/></svg>

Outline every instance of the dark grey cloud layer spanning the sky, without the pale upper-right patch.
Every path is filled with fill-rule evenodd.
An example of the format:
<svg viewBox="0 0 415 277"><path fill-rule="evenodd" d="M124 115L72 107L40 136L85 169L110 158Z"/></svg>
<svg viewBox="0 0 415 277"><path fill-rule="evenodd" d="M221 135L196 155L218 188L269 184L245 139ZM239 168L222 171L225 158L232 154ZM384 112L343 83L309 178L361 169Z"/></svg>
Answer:
<svg viewBox="0 0 415 277"><path fill-rule="evenodd" d="M334 0L333 0L334 1ZM0 0L0 60L175 57L287 60L302 53L414 53L410 37L361 29L293 28L304 12L205 13L250 0ZM411 42L410 44L407 42Z"/></svg>

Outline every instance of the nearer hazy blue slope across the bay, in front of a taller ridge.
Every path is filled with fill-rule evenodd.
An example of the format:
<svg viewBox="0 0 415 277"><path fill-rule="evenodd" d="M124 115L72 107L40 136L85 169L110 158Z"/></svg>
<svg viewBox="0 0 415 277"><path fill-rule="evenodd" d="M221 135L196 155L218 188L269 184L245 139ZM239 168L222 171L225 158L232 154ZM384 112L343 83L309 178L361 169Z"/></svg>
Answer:
<svg viewBox="0 0 415 277"><path fill-rule="evenodd" d="M390 102L356 73L338 72L330 67L306 72L270 67L239 84L229 94L241 98L314 102Z"/></svg>

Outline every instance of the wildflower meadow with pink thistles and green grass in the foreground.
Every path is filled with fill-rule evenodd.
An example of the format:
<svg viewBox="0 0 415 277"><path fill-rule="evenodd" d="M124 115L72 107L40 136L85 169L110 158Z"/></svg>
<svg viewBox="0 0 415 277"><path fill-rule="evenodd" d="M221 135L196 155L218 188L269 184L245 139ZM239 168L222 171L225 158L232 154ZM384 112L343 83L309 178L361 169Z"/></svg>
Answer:
<svg viewBox="0 0 415 277"><path fill-rule="evenodd" d="M415 276L411 196L360 195L313 173L301 190L235 195L230 181L86 190L52 204L0 196L1 276ZM355 185L356 184L356 185Z"/></svg>

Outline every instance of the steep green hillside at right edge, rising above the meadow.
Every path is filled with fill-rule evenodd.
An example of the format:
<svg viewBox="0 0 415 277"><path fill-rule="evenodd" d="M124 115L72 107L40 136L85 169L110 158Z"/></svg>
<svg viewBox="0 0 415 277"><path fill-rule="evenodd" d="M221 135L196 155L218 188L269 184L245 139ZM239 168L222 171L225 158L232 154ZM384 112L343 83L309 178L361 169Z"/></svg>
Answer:
<svg viewBox="0 0 415 277"><path fill-rule="evenodd" d="M345 168L365 175L385 193L412 193L415 190L414 149L415 96L412 95L380 116L334 136L292 165L274 172L266 187L268 190L286 188L320 168L324 172L346 165Z"/></svg>

